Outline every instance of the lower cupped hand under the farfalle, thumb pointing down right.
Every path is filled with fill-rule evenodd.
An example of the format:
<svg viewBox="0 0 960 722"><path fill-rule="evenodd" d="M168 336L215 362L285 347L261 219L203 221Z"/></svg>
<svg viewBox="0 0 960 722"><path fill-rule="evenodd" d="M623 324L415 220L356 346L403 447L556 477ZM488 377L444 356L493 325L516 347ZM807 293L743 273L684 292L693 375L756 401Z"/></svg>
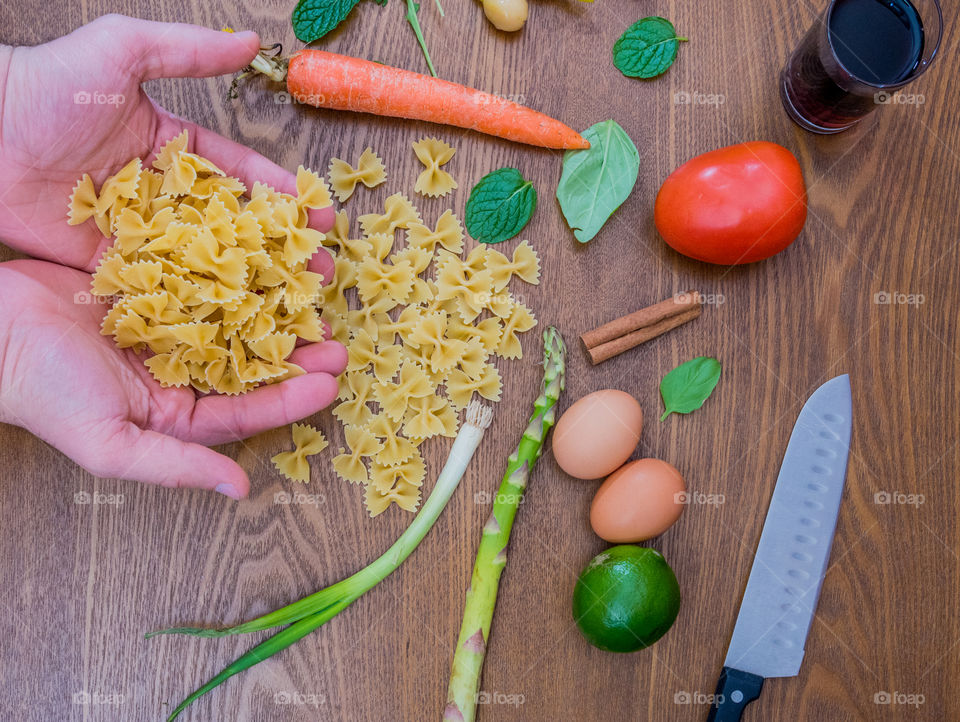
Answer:
<svg viewBox="0 0 960 722"><path fill-rule="evenodd" d="M89 274L64 266L0 264L0 421L97 476L245 497L243 469L203 444L305 418L337 395L334 376L347 354L332 341L293 352L305 375L243 396L198 399L191 388L162 388L142 357L100 335L102 305L75 302L89 288Z"/></svg>

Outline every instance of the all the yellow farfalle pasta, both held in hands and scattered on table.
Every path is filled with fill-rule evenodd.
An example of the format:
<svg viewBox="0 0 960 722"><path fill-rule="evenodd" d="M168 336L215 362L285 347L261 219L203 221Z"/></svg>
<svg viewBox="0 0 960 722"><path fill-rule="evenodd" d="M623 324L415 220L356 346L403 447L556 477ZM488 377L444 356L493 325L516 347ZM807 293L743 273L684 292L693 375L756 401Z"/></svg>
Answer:
<svg viewBox="0 0 960 722"><path fill-rule="evenodd" d="M425 138L414 151L425 167L416 192L457 187L440 167L453 148ZM349 356L333 408L345 446L333 469L363 485L371 516L391 504L414 511L426 475L420 445L455 436L475 394L499 401L493 360L519 358L519 334L537 323L510 291L515 278L539 283L529 242L509 255L484 245L464 254L452 210L425 222L402 193L360 215L359 233L343 210L329 233L308 228L306 210L330 205L331 187L345 202L358 185L385 182L370 148L356 167L333 159L330 186L301 167L296 196L260 184L248 194L188 153L185 134L153 166L134 160L99 194L84 176L71 198L71 223L94 218L115 236L93 279L95 294L118 296L103 333L149 349L145 363L164 386L236 394L301 373L287 359L298 337L323 338L322 321ZM329 283L306 269L321 246L334 254ZM309 481L307 457L328 442L308 424L294 425L293 442L274 465Z"/></svg>

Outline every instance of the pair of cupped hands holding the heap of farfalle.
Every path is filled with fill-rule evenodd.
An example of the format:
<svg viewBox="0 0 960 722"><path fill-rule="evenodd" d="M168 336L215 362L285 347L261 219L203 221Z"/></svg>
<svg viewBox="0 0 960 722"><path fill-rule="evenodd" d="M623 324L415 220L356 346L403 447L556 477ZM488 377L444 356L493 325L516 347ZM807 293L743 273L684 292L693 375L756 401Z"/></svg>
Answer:
<svg viewBox="0 0 960 722"><path fill-rule="evenodd" d="M150 162L183 129L189 150L240 178L295 192L295 176L258 153L159 107L155 78L235 72L256 54L254 33L104 16L29 48L0 46L0 241L40 260L0 264L0 421L17 424L90 472L249 493L244 470L207 448L310 416L337 395L342 345L303 345L305 375L243 396L163 388L143 357L100 334L106 306L76 303L109 246L93 221L67 225L67 199L89 173L99 185L131 158ZM327 231L330 208L311 211ZM321 249L309 268L333 276Z"/></svg>

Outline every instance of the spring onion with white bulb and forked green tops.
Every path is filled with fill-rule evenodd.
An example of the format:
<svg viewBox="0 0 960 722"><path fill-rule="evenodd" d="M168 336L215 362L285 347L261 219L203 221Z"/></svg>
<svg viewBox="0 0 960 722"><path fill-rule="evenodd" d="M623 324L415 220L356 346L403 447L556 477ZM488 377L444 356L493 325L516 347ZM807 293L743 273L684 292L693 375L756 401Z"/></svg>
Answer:
<svg viewBox="0 0 960 722"><path fill-rule="evenodd" d="M272 657L277 652L286 649L313 630L326 624L399 567L423 541L427 532L433 528L440 513L460 484L467 465L473 458L473 454L483 438L483 433L490 426L492 419L493 412L489 407L477 401L470 403L467 407L466 422L460 429L460 433L457 434L457 438L454 439L447 463L444 464L433 491L430 492L430 496L427 497L420 511L410 522L410 526L403 531L386 552L356 574L304 597L298 602L288 604L281 609L264 614L262 617L233 627L223 629L177 627L147 634L148 638L158 634L225 637L231 634L259 632L273 627L290 625L258 644L193 692L177 706L169 719L175 719L191 702L219 686L233 675L249 669L268 657Z"/></svg>

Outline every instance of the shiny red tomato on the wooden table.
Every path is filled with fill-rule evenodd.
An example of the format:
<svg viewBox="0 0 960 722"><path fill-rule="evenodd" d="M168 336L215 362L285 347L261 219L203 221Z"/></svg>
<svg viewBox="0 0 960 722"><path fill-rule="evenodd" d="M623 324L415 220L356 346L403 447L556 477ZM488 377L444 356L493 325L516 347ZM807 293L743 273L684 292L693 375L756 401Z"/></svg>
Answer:
<svg viewBox="0 0 960 722"><path fill-rule="evenodd" d="M713 150L667 177L653 220L685 256L725 266L753 263L779 253L803 230L803 172L793 153L776 143Z"/></svg>

